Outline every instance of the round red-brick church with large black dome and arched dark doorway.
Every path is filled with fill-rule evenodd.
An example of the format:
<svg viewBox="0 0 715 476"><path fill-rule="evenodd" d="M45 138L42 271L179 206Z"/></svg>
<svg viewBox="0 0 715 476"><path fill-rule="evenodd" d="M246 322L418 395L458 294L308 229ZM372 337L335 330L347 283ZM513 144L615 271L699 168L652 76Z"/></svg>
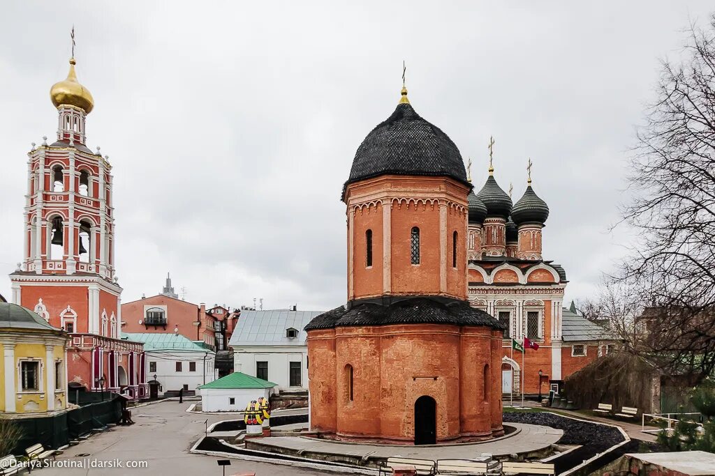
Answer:
<svg viewBox="0 0 715 476"><path fill-rule="evenodd" d="M403 88L343 188L347 304L305 328L311 432L403 445L503 435L503 326L467 300L471 190L458 148Z"/></svg>

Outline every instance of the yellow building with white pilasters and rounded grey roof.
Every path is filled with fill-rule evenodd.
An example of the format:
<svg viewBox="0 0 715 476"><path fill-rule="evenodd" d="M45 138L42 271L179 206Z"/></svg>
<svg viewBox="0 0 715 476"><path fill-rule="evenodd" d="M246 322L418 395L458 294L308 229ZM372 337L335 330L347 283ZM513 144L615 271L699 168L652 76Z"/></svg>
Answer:
<svg viewBox="0 0 715 476"><path fill-rule="evenodd" d="M0 414L66 409L68 339L31 310L0 303Z"/></svg>

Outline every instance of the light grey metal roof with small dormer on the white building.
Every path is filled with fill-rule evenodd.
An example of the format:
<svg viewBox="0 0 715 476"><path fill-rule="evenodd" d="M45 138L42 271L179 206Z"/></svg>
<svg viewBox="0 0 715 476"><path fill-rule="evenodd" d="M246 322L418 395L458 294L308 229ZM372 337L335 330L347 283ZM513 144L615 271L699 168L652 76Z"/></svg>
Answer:
<svg viewBox="0 0 715 476"><path fill-rule="evenodd" d="M242 310L236 329L228 345L305 345L305 326L322 310ZM298 331L298 337L289 339L287 329Z"/></svg>

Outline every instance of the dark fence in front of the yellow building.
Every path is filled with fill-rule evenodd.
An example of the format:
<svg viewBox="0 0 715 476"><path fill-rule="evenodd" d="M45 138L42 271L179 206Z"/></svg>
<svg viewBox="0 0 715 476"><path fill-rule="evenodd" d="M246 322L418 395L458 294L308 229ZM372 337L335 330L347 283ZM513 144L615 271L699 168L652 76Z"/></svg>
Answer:
<svg viewBox="0 0 715 476"><path fill-rule="evenodd" d="M107 393L104 401L87 402L60 415L13 420L22 430L22 437L13 453L21 455L26 448L37 443L57 449L92 430L117 423L122 417L122 400L118 395Z"/></svg>

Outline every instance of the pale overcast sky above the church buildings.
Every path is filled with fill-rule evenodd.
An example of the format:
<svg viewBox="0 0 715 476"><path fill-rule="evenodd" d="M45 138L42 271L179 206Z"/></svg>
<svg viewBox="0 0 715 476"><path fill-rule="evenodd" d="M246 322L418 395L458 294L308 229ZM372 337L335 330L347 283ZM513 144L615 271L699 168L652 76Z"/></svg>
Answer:
<svg viewBox="0 0 715 476"><path fill-rule="evenodd" d="M507 5L508 4L508 5ZM13 1L0 7L0 275L22 258L26 153L54 140L50 86L94 96L88 146L114 173L123 302L167 271L193 303L345 302L342 183L355 150L410 101L516 201L551 208L545 259L588 298L628 245L608 231L626 198L627 149L660 61L711 1ZM9 278L0 293L10 296Z"/></svg>

